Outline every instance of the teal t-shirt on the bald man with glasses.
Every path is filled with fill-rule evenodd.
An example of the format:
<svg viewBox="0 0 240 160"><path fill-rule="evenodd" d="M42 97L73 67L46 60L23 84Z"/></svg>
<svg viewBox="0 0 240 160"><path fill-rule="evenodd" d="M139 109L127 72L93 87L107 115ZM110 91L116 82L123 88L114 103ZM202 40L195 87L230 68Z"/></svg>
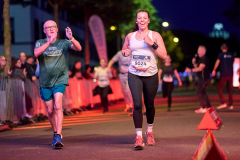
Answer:
<svg viewBox="0 0 240 160"><path fill-rule="evenodd" d="M35 48L47 43L47 39L36 42ZM42 88L54 87L58 84L68 85L68 50L72 43L66 39L57 39L38 57L39 85Z"/></svg>

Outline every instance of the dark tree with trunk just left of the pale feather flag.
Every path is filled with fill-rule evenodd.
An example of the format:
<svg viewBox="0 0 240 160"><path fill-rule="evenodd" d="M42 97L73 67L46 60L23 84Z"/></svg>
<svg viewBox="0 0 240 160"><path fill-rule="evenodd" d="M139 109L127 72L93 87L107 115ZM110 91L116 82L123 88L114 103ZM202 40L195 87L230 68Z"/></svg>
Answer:
<svg viewBox="0 0 240 160"><path fill-rule="evenodd" d="M131 20L131 10L135 7L132 1L122 0L79 0L78 7L69 11L71 13L69 19L72 22L84 22L85 26L85 64L90 62L89 51L89 28L88 20L93 14L99 15L104 23L106 34L109 34L108 28L111 25L118 26L123 22L129 22ZM128 6L128 7L126 7ZM83 17L82 19L81 17ZM117 18L116 18L117 17ZM120 30L116 31L117 35L120 35ZM115 35L116 36L116 35ZM108 38L107 38L108 39Z"/></svg>

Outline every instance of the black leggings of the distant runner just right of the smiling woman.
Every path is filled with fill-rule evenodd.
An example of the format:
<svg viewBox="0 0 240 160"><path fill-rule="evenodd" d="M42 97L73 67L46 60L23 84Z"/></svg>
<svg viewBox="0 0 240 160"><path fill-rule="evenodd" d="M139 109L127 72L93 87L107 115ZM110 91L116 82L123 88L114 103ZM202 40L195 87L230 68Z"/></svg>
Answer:
<svg viewBox="0 0 240 160"><path fill-rule="evenodd" d="M168 98L168 108L171 107L173 88L174 88L173 82L164 82L163 81L162 93L163 93L163 98L165 98L165 97Z"/></svg>

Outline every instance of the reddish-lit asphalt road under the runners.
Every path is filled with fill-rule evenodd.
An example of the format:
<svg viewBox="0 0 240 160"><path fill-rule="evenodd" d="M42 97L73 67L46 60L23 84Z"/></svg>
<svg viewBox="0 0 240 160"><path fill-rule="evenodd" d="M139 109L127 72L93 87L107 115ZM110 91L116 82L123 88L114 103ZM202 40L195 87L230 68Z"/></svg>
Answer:
<svg viewBox="0 0 240 160"><path fill-rule="evenodd" d="M109 106L110 112L86 111L65 116L62 149L51 147L48 121L21 125L0 132L0 160L187 160L192 159L206 130L197 130L204 114L194 113L199 102L194 91L174 92L172 110L167 112L167 99L155 99L155 146L134 150L135 130L132 117L123 112L124 102ZM218 94L209 94L213 107L219 105ZM227 100L227 95L225 95ZM223 124L213 130L228 160L240 159L240 94L234 93L234 109L217 110ZM143 132L146 130L146 118ZM145 136L144 136L145 139Z"/></svg>

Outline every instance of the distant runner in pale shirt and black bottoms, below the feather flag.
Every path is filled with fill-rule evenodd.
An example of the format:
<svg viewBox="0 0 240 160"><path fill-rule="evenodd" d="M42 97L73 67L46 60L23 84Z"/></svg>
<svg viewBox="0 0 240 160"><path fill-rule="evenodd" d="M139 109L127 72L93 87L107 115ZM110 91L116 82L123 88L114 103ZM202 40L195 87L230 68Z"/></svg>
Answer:
<svg viewBox="0 0 240 160"><path fill-rule="evenodd" d="M98 86L93 90L93 95L100 95L103 105L103 113L108 112L108 94L112 93L109 86L109 79L112 78L112 73L108 70L105 59L100 59L100 66L94 74L94 78L98 80Z"/></svg>

